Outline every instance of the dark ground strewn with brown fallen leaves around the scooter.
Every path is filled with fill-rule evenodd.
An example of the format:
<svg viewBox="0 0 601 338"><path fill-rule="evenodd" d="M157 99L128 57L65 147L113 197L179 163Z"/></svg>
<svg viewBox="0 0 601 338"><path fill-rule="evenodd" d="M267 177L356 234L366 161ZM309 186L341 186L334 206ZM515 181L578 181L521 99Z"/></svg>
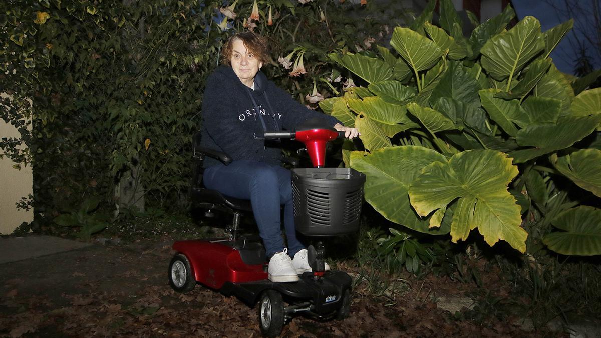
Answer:
<svg viewBox="0 0 601 338"><path fill-rule="evenodd" d="M169 287L171 240L95 244L0 265L0 336L259 337L256 309L200 285ZM343 268L344 266L339 266ZM387 300L354 290L350 318L295 318L284 337L539 337L519 318L474 321L439 308L470 286L429 277ZM459 315L459 316L458 316ZM552 336L563 336L552 334Z"/></svg>

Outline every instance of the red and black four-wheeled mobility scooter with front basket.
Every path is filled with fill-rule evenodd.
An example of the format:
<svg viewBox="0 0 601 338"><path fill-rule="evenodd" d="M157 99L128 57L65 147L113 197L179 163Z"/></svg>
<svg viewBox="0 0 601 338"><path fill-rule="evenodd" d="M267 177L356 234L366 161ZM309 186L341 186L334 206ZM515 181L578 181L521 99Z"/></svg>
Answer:
<svg viewBox="0 0 601 338"><path fill-rule="evenodd" d="M296 132L266 132L266 140L291 138L305 144L313 168L292 170L294 221L305 236L339 236L357 232L363 199L365 175L350 168L324 168L328 141L344 137L344 132L323 128L323 123L307 121ZM222 195L203 188L205 156L225 164L231 158L221 152L203 149L200 133L194 136L194 177L191 194L195 206L233 214L225 230L227 238L178 241L169 264L169 284L177 292L189 292L197 283L234 295L248 306L258 303L258 324L265 336L279 336L285 322L295 315L316 319L344 319L350 312L352 279L342 271L325 271L323 245L308 248L312 272L293 283L273 283L267 279L265 250L258 235L243 236L240 217L252 213L249 200Z"/></svg>

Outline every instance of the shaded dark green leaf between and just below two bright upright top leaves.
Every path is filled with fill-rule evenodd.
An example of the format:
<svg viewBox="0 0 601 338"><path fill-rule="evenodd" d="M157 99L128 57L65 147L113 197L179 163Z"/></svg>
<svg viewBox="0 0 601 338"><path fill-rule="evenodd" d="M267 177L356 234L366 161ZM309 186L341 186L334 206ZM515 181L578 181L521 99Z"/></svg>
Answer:
<svg viewBox="0 0 601 338"><path fill-rule="evenodd" d="M463 67L460 61L450 61L447 72L441 76L440 82L432 91L430 100L451 97L466 105L480 105L478 90L480 84L470 75L468 69Z"/></svg>

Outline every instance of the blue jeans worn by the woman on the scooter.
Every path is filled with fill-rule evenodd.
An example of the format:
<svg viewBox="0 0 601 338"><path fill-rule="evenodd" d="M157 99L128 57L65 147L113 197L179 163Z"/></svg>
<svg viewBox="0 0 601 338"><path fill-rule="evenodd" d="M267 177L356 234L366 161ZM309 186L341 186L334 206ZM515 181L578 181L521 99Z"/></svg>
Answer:
<svg viewBox="0 0 601 338"><path fill-rule="evenodd" d="M251 200L252 212L263 239L267 257L284 251L281 230L281 206L284 206L284 229L288 254L294 257L304 245L296 238L290 170L257 161L233 161L204 171L204 186L224 195Z"/></svg>

